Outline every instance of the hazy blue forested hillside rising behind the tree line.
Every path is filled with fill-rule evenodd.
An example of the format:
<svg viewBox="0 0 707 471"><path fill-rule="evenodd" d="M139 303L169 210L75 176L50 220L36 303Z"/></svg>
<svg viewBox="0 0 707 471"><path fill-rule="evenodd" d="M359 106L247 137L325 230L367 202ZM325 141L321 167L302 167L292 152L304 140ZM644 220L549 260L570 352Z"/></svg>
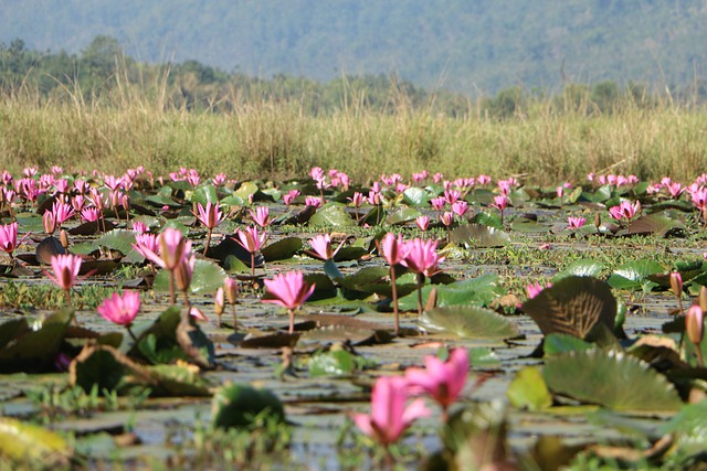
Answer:
<svg viewBox="0 0 707 471"><path fill-rule="evenodd" d="M32 49L78 53L103 34L139 60L487 94L688 84L707 76L705 24L705 0L0 0L0 42Z"/></svg>

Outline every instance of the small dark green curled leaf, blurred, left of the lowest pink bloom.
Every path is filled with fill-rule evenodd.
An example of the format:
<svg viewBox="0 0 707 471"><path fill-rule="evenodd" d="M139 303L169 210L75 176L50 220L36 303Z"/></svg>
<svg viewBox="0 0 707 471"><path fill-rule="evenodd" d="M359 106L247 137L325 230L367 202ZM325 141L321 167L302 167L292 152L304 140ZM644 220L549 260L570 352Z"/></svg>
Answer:
<svg viewBox="0 0 707 471"><path fill-rule="evenodd" d="M213 396L212 409L214 427L247 427L262 414L277 424L285 421L285 409L277 396L245 384L219 388Z"/></svg>

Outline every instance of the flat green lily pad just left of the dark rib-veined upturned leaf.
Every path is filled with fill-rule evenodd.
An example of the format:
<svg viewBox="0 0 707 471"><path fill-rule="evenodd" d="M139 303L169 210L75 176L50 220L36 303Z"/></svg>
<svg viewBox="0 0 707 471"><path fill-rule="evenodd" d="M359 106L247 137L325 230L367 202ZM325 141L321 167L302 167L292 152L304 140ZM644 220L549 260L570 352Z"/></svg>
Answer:
<svg viewBox="0 0 707 471"><path fill-rule="evenodd" d="M463 339L503 340L518 336L518 328L490 309L476 306L435 308L420 317L420 327L454 333Z"/></svg>

